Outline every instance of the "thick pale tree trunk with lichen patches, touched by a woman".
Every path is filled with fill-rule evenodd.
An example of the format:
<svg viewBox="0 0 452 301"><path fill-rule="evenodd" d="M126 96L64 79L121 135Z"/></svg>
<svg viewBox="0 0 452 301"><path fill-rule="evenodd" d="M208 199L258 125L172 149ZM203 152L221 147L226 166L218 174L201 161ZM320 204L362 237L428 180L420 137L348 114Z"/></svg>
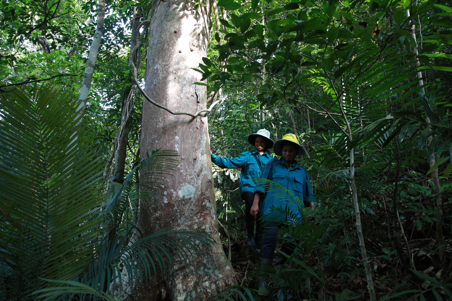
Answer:
<svg viewBox="0 0 452 301"><path fill-rule="evenodd" d="M160 1L151 23L145 91L173 111L194 113L206 107L206 87L193 84L201 74L190 68L207 56L209 4L194 3ZM217 242L202 246L190 262L176 263L160 284L170 300L208 300L233 284L234 272L218 236L207 117L172 115L145 100L141 133L141 157L155 148L174 149L180 155L179 169L165 194L152 207L143 204L140 209L143 234L164 228L193 229L209 233ZM149 287L142 299L155 300L156 288Z"/></svg>

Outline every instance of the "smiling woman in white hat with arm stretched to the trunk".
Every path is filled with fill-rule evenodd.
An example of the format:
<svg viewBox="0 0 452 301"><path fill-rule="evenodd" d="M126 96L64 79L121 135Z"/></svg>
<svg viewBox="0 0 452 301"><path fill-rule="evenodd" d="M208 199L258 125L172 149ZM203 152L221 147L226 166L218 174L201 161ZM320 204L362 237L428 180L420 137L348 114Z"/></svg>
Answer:
<svg viewBox="0 0 452 301"><path fill-rule="evenodd" d="M273 140L270 139L270 132L262 129L255 134L248 136L248 142L254 145L254 152L240 153L235 158L223 158L212 153L212 162L221 168L241 168L239 190L242 199L245 201L245 222L248 234L248 247L254 248L256 241L254 238L254 218L250 214L250 208L254 201L254 189L256 185L251 179L258 178L259 172L264 165L273 159L270 155L270 148L273 147Z"/></svg>

